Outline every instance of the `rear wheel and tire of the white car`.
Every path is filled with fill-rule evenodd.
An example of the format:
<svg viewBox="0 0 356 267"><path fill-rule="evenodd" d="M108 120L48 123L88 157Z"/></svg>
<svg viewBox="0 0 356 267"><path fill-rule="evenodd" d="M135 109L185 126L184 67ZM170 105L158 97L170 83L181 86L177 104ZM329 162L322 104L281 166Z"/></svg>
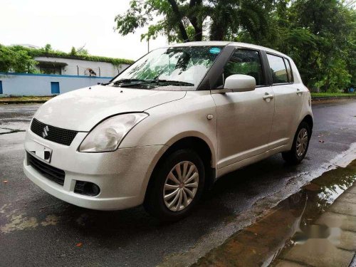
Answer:
<svg viewBox="0 0 356 267"><path fill-rule="evenodd" d="M302 144L300 145L301 147L304 147L303 150L298 150L299 144L300 144L300 138L303 140L303 136L306 133L306 138L305 142L303 141ZM307 154L308 147L309 147L309 141L310 141L310 127L307 122L300 122L300 125L297 129L297 132L295 132L294 140L293 140L293 145L292 149L288 152L283 152L282 157L286 162L289 164L298 164L300 163L305 155Z"/></svg>

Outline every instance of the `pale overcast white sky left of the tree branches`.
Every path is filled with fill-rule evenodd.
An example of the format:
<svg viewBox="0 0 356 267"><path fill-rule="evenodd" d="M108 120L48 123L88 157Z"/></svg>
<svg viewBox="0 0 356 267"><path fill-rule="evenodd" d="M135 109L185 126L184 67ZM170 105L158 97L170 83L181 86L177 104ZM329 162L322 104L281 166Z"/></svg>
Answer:
<svg viewBox="0 0 356 267"><path fill-rule="evenodd" d="M69 52L85 44L91 55L137 59L147 53L140 41L143 30L120 36L114 32L115 16L124 13L130 0L1 0L0 43L28 43ZM150 41L150 48L167 44L164 37Z"/></svg>

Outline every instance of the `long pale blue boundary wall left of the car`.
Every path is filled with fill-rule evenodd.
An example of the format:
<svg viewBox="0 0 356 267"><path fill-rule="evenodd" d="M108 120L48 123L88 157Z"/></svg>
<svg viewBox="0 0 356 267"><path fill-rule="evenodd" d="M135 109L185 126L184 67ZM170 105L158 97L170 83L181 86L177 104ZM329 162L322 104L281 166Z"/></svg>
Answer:
<svg viewBox="0 0 356 267"><path fill-rule="evenodd" d="M28 73L0 73L2 95L52 95L51 82L58 82L60 93L78 88L108 83L112 77L78 75L48 75ZM1 93L1 92L0 92Z"/></svg>

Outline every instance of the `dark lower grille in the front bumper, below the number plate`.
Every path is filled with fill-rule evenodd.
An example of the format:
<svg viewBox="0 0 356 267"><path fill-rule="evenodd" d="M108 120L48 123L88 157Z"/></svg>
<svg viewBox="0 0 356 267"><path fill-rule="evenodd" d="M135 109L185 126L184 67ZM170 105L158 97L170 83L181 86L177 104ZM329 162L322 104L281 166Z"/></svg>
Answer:
<svg viewBox="0 0 356 267"><path fill-rule="evenodd" d="M63 186L66 173L62 169L58 169L49 164L46 164L45 162L36 159L36 157L33 157L33 155L28 152L27 159L28 164L30 164L33 169L36 169L37 172L40 172L47 179L50 179L51 181Z"/></svg>

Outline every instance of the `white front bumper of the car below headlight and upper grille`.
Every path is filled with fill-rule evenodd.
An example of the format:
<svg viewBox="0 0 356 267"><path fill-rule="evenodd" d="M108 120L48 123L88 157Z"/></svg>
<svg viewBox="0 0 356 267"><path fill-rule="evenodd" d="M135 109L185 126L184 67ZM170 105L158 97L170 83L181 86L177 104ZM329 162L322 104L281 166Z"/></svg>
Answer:
<svg viewBox="0 0 356 267"><path fill-rule="evenodd" d="M32 182L58 199L88 209L117 210L142 204L150 175L167 147L152 145L120 148L115 152L83 153L78 146L87 132L78 132L70 146L60 145L26 132L23 171ZM31 142L52 150L49 164L65 172L63 186L43 176L28 161ZM32 155L32 154L31 154ZM74 192L75 182L92 182L100 187L100 194L88 197Z"/></svg>

